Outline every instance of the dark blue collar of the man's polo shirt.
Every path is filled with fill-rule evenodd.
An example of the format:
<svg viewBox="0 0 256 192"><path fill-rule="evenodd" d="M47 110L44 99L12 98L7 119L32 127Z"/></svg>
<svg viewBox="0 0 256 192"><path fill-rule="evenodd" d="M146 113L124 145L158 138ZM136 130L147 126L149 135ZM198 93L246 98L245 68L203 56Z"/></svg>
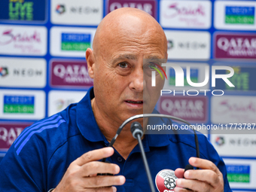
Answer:
<svg viewBox="0 0 256 192"><path fill-rule="evenodd" d="M93 87L90 87L84 98L78 102L77 106L77 124L81 134L90 142L105 142L108 143L105 136L99 130L96 119L93 114L93 108L90 100L94 98ZM153 113L159 114L157 110ZM160 119L161 120L161 119ZM155 120L154 120L155 121ZM170 121L171 122L171 121ZM150 147L163 147L169 145L168 135L145 135L143 143Z"/></svg>

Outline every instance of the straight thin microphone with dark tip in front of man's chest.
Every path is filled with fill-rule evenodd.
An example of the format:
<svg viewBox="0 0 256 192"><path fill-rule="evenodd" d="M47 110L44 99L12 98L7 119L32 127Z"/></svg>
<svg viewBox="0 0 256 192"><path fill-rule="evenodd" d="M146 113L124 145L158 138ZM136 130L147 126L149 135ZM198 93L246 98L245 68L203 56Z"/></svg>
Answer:
<svg viewBox="0 0 256 192"><path fill-rule="evenodd" d="M146 170L146 173L148 176L149 186L151 187L151 191L155 192L154 184L153 184L152 177L151 177L151 172L148 167L148 161L147 161L146 154L145 154L145 151L144 151L144 148L142 145L142 136L143 136L142 125L139 122L133 122L131 125L131 132L133 133L134 139L137 139L139 142L139 148L141 150L142 160L143 160L145 170Z"/></svg>

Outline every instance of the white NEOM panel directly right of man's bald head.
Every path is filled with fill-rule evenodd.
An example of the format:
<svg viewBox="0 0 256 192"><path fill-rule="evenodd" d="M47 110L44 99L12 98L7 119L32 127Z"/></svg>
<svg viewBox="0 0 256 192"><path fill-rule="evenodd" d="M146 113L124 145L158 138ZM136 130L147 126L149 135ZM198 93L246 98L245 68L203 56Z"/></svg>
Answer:
<svg viewBox="0 0 256 192"><path fill-rule="evenodd" d="M209 59L209 32L164 30L168 41L168 59Z"/></svg>

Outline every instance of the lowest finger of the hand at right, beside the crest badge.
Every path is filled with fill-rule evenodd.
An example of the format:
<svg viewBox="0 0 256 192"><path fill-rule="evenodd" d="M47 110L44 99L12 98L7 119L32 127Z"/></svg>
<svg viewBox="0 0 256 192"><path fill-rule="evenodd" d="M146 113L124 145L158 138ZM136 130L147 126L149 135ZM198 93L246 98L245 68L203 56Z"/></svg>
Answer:
<svg viewBox="0 0 256 192"><path fill-rule="evenodd" d="M212 191L214 189L210 184L204 181L190 180L185 178L178 178L176 180L176 187L183 187L196 191Z"/></svg>

